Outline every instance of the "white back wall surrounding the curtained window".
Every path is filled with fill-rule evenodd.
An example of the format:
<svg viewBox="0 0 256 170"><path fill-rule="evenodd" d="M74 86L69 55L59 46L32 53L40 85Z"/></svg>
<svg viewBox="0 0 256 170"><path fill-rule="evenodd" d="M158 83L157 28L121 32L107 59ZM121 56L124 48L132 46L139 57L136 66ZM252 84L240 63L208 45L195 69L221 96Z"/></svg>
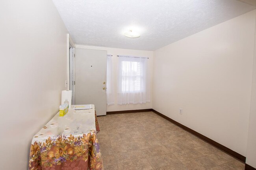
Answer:
<svg viewBox="0 0 256 170"><path fill-rule="evenodd" d="M76 45L76 48L86 48L86 49L98 49L106 50L108 54L112 56L112 69L113 69L113 90L114 90L114 101L115 104L107 106L107 112L109 111L119 111L119 110L137 110L137 109L151 109L152 108L152 75L153 75L153 51L142 51L142 50L133 50L133 49L120 49L120 48L105 48L105 47L94 47L94 46L82 46ZM117 104L117 69L118 69L118 57L117 55L132 55L132 56L141 56L148 57L149 66L150 66L150 102L146 104L126 104L118 105Z"/></svg>

